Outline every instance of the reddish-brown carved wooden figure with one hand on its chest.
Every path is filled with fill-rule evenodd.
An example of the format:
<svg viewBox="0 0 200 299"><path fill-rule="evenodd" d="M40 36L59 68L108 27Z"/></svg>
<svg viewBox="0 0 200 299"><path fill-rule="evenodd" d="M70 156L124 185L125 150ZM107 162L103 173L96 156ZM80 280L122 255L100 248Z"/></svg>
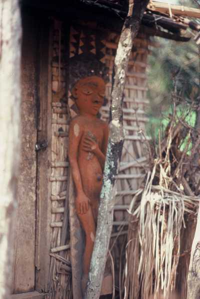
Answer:
<svg viewBox="0 0 200 299"><path fill-rule="evenodd" d="M105 83L97 76L80 79L72 88L79 115L69 127L68 157L75 186L75 208L85 234L82 261L84 293L95 239L99 195L107 149L108 125L97 118Z"/></svg>

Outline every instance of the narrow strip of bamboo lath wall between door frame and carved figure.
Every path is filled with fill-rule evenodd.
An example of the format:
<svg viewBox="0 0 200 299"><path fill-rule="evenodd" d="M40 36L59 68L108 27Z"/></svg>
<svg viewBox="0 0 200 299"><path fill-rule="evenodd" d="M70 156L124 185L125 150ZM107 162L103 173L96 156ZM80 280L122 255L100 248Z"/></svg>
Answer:
<svg viewBox="0 0 200 299"><path fill-rule="evenodd" d="M54 21L52 36L52 139L51 139L51 248L48 299L72 298L70 246L67 218L67 144L65 35L61 22ZM64 219L64 220L63 220Z"/></svg>

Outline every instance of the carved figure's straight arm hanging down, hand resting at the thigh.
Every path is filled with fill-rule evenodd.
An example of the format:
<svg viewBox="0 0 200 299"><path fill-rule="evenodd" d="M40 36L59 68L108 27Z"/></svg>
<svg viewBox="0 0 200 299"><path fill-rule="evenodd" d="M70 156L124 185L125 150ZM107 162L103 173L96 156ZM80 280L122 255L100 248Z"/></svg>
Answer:
<svg viewBox="0 0 200 299"><path fill-rule="evenodd" d="M82 129L77 121L71 121L69 126L68 158L71 166L72 178L76 189L75 206L78 214L84 214L88 210L89 199L84 194L80 171L77 163L78 147L82 136Z"/></svg>

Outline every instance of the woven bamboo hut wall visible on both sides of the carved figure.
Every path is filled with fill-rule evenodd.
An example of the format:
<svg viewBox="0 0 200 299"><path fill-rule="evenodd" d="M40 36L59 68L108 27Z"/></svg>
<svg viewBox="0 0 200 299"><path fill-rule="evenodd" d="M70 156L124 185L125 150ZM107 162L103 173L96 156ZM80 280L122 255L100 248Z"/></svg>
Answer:
<svg viewBox="0 0 200 299"><path fill-rule="evenodd" d="M67 114L66 99L66 53L67 45L64 41L67 37L63 33L62 24L54 22L52 40L52 142L51 142L51 262L49 271L49 294L48 298L71 298L71 269L67 215L67 135L69 117ZM111 82L112 67L117 47L118 35L110 33L104 42L103 62L109 68L109 79ZM136 39L133 52L128 65L128 75L124 91L123 120L125 129L124 148L120 171L117 177L116 205L114 212L114 223L112 242L114 246L112 254L115 260L117 275L119 259L122 258L122 248L125 244L127 232L126 209L132 199L132 195L139 187L143 177L142 167L146 158L143 149L143 137L138 134L138 129L144 130L145 108L148 104L146 99L146 60L148 53L148 42L144 35ZM111 83L106 87L106 98L110 98ZM109 103L102 107L101 116L103 120L108 119ZM64 208L65 207L65 208ZM63 222L64 219L64 222ZM68 233L67 233L68 234ZM120 237L116 239L116 236ZM117 279L120 281L120 279ZM118 284L118 283L117 283Z"/></svg>

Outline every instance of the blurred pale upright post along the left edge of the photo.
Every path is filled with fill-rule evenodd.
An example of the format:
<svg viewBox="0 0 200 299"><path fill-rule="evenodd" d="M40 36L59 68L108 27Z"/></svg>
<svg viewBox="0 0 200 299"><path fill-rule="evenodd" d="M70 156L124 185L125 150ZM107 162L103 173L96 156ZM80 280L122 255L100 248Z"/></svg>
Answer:
<svg viewBox="0 0 200 299"><path fill-rule="evenodd" d="M0 299L12 273L12 232L19 160L21 24L17 0L0 1Z"/></svg>

